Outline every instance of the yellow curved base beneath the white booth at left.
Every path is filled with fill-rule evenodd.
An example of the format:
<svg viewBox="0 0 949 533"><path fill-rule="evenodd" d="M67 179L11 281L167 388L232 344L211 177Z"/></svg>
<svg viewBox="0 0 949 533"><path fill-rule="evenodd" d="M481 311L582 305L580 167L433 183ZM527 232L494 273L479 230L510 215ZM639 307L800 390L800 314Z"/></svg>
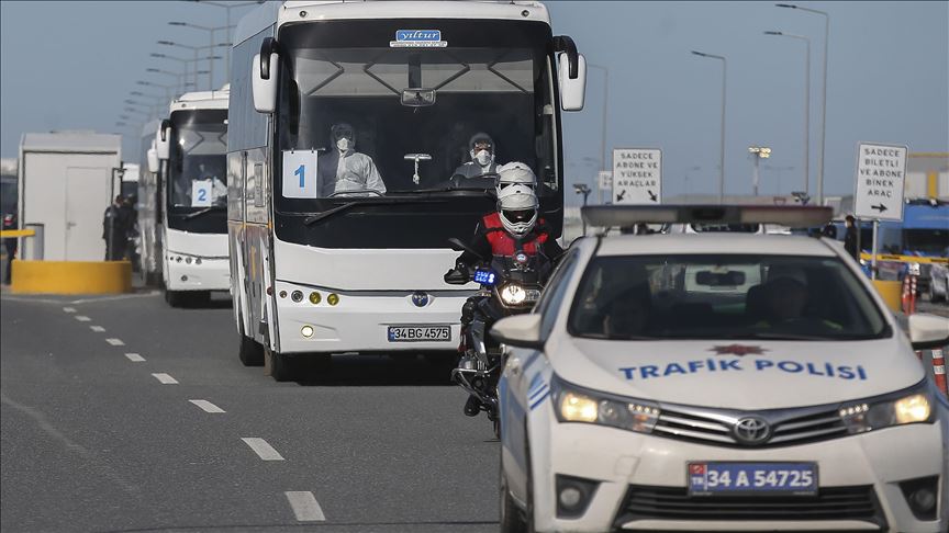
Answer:
<svg viewBox="0 0 949 533"><path fill-rule="evenodd" d="M132 292L129 261L13 260L16 294L122 294Z"/></svg>

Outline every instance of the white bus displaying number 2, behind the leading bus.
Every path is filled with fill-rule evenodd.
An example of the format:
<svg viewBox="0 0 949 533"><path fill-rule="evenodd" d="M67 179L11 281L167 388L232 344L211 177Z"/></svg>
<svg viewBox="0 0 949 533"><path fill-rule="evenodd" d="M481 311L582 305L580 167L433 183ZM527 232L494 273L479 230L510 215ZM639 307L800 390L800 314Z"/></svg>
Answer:
<svg viewBox="0 0 949 533"><path fill-rule="evenodd" d="M227 262L227 87L171 102L155 136L155 213L165 299L206 303L231 288ZM147 249L147 248L146 248ZM143 260L145 263L156 261Z"/></svg>

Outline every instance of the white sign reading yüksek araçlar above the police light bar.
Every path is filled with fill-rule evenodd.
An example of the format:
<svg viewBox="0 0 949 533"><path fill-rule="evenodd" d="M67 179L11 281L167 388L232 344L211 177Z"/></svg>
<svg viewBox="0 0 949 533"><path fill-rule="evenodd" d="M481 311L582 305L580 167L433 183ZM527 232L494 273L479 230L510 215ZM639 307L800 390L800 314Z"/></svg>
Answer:
<svg viewBox="0 0 949 533"><path fill-rule="evenodd" d="M613 203L655 205L662 202L662 150L613 149Z"/></svg>

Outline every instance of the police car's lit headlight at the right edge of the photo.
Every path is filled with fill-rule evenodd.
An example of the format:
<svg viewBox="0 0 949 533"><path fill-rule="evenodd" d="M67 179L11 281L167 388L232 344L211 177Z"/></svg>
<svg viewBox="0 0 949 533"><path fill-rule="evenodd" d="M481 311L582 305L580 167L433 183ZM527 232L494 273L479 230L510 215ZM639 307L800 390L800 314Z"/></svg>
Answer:
<svg viewBox="0 0 949 533"><path fill-rule="evenodd" d="M850 433L933 421L934 395L927 384L893 395L853 401L839 415Z"/></svg>

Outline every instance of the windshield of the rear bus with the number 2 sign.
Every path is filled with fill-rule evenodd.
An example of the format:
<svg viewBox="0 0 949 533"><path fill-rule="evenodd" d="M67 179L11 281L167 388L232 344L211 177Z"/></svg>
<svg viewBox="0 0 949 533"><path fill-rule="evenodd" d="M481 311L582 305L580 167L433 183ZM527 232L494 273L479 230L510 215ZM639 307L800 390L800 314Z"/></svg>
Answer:
<svg viewBox="0 0 949 533"><path fill-rule="evenodd" d="M169 200L175 207L227 206L225 110L179 111L172 117Z"/></svg>

